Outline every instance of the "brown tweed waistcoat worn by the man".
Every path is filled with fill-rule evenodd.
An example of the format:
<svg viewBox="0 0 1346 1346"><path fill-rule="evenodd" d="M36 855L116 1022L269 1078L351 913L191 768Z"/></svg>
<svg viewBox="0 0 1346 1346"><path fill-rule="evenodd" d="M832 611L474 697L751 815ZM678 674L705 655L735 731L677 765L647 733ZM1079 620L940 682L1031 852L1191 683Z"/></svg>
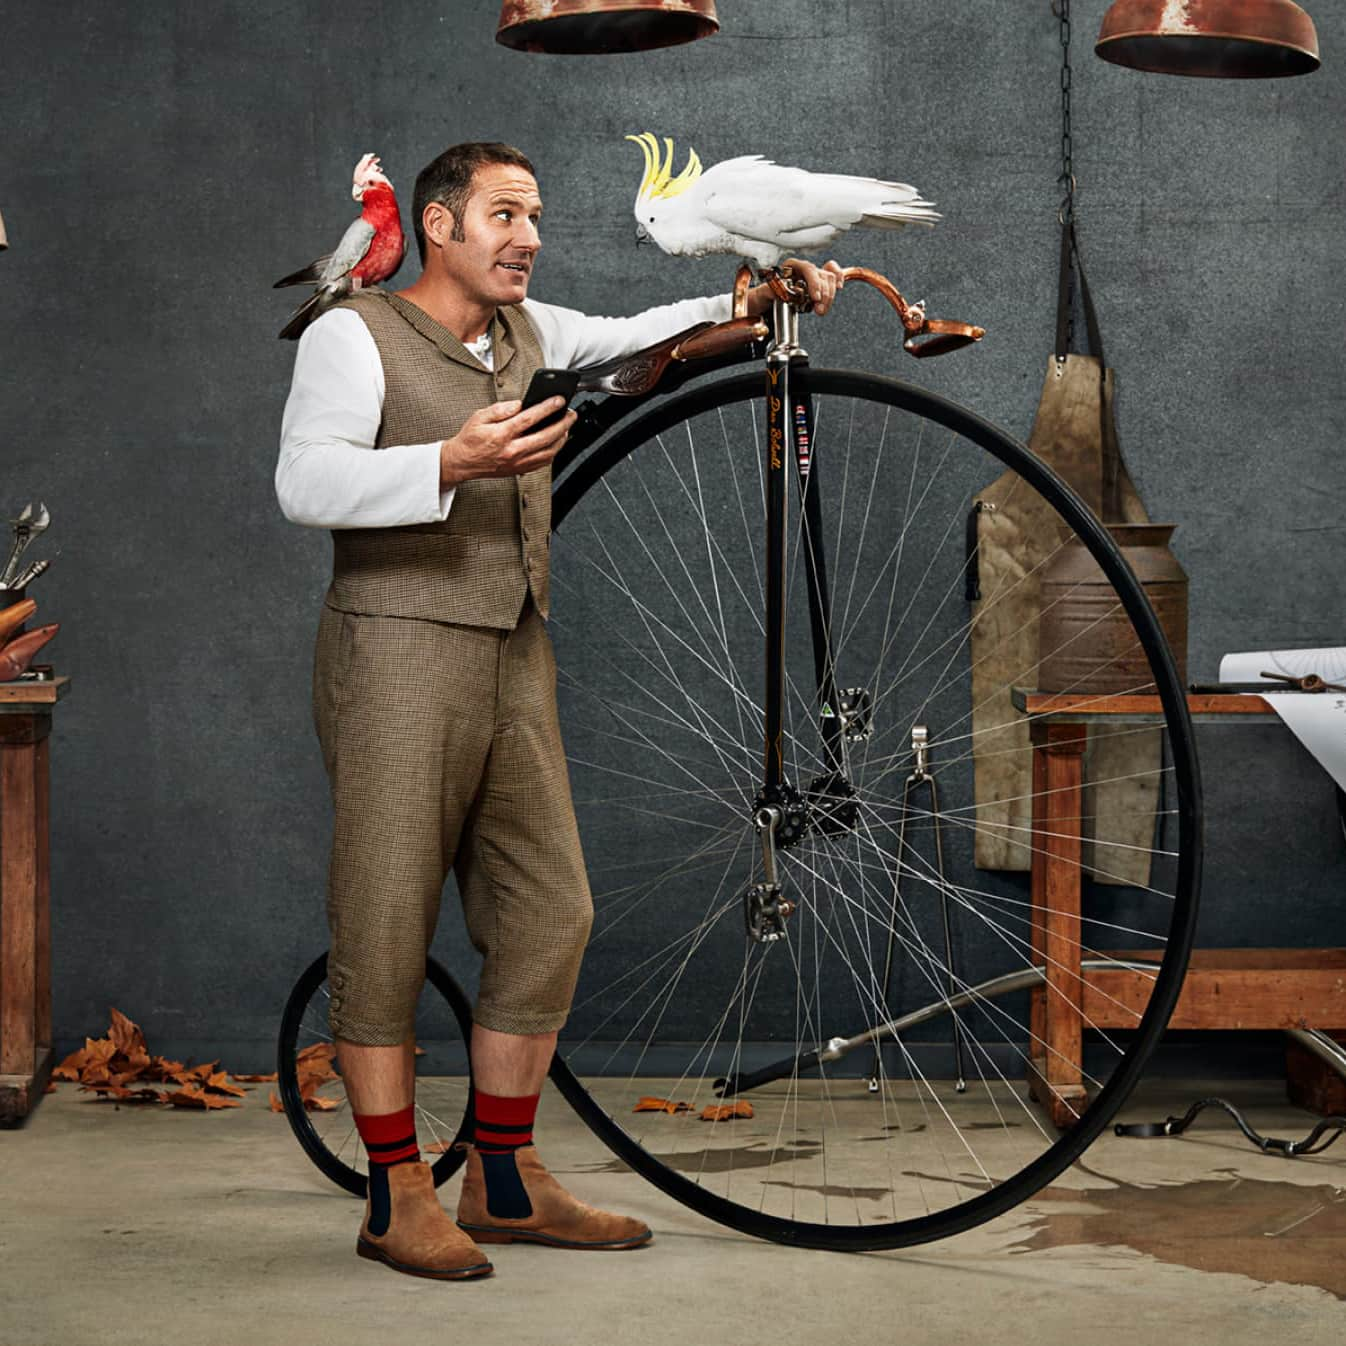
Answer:
<svg viewBox="0 0 1346 1346"><path fill-rule="evenodd" d="M494 371L397 295L367 289L339 307L359 314L384 365L376 451L452 437L472 412L522 398L542 365L537 334L517 306L493 319ZM510 630L532 590L545 616L551 511L552 470L542 467L463 482L443 522L334 529L327 602L343 612Z"/></svg>

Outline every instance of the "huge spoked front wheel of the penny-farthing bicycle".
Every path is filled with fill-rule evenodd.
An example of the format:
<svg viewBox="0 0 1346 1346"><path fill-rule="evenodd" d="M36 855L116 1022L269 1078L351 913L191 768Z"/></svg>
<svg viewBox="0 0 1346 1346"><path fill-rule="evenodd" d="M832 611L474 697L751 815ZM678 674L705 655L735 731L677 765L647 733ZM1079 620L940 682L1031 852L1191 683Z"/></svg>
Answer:
<svg viewBox="0 0 1346 1346"><path fill-rule="evenodd" d="M781 857L802 900L778 944L754 944L740 917L742 891L762 868L748 822L760 770L758 377L657 408L556 487L552 633L595 926L553 1077L626 1162L712 1218L816 1246L896 1246L1008 1209L1106 1125L1186 965L1199 786L1186 704L1154 616L1073 494L1022 446L953 404L835 371L813 371L812 386L813 458L828 471L822 536L837 561L837 681L870 688L874 727L845 752L857 791L853 829L814 829ZM1151 773L1164 781L1167 839L1144 848L1143 884L1089 886L1078 938L1086 956L1113 962L1119 949L1156 950L1160 970L1144 1014L1128 1018L1127 1030L1092 1035L1094 1097L1075 1106L1065 1136L1024 1098L1023 1058L1043 1050L1030 995L977 993L1043 965L1028 944L1026 876L977 871L969 855L973 833L992 822L972 806L970 754L984 738L970 724L962 524L1001 466L1047 499L1071 525L1063 534L1078 536L1102 567L1164 700L1170 743ZM793 486L790 507L793 525ZM816 742L798 556L794 545L786 731L790 774L802 787L830 763ZM984 600L979 621L988 610ZM917 720L930 724L940 830L952 852L942 880L926 801L915 801L905 832L895 825ZM1100 875L1114 845L1098 837ZM952 913L952 969L941 894ZM890 927L899 953L884 993L876 946ZM719 1101L716 1078L789 1061L795 1044L852 1038L950 995L969 1003L942 1016L944 1046L933 1020L883 1034L874 1096L863 1079L874 1051L852 1047L743 1094L751 1120L699 1120ZM954 1020L970 1081L964 1094L944 1082ZM690 1113L633 1113L650 1077L664 1079L670 1101L690 1102Z"/></svg>

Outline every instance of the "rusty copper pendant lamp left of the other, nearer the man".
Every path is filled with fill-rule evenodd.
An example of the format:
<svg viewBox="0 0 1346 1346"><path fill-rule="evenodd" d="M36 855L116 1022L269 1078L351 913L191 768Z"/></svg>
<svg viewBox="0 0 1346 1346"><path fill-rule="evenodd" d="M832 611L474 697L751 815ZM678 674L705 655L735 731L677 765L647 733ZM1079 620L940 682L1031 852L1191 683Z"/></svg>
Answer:
<svg viewBox="0 0 1346 1346"><path fill-rule="evenodd" d="M715 0L505 0L495 40L565 55L649 51L717 32Z"/></svg>

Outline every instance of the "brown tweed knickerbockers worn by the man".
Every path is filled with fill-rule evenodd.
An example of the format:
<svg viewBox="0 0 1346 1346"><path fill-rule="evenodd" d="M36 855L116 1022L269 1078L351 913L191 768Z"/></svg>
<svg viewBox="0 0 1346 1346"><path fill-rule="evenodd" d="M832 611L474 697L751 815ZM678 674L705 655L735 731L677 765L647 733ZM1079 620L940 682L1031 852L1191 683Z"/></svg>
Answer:
<svg viewBox="0 0 1346 1346"><path fill-rule="evenodd" d="M335 808L334 1036L411 1036L450 868L485 958L476 1022L565 1022L592 905L555 688L532 600L513 630L323 607L314 717Z"/></svg>

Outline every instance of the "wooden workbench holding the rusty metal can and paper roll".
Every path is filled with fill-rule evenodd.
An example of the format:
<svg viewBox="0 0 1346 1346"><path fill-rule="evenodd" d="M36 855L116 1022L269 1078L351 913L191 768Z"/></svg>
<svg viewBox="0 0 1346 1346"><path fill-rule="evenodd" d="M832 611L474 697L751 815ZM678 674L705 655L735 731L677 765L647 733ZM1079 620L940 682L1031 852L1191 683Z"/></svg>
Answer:
<svg viewBox="0 0 1346 1346"><path fill-rule="evenodd" d="M1058 1127L1082 1112L1084 1026L1135 1028L1149 1000L1145 972L1081 966L1081 814L1088 725L1163 723L1158 696L1015 692L1032 716L1032 934L1047 983L1032 992L1030 1090ZM1275 717L1261 696L1190 695L1195 721ZM1162 949L1108 950L1159 961ZM1082 995L1081 995L1082 987ZM1346 1028L1346 949L1198 949L1171 1028Z"/></svg>

